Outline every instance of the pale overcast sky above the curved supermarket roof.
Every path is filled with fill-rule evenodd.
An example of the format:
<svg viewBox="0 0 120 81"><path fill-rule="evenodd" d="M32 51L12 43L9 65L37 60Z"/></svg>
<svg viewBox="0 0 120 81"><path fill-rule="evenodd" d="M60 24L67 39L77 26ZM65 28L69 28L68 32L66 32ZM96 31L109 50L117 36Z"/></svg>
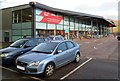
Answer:
<svg viewBox="0 0 120 81"><path fill-rule="evenodd" d="M0 0L0 9L36 1L54 8L118 19L119 0Z"/></svg>

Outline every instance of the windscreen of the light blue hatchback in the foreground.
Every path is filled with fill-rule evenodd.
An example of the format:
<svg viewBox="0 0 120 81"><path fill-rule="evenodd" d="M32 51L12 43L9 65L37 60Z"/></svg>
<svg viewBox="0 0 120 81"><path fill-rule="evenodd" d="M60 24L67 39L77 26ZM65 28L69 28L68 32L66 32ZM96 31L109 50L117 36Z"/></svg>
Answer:
<svg viewBox="0 0 120 81"><path fill-rule="evenodd" d="M56 42L41 43L35 48L33 48L32 51L39 52L39 53L45 53L45 54L51 54L57 45L58 43Z"/></svg>

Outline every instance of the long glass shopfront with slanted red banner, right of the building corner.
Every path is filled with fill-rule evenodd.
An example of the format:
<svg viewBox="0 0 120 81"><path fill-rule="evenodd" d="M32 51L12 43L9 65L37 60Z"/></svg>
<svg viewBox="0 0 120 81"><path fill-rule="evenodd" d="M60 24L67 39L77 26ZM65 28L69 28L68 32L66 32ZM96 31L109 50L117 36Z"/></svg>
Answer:
<svg viewBox="0 0 120 81"><path fill-rule="evenodd" d="M35 14L36 30L44 30L48 32L44 34L50 34L49 32L53 32L52 34L55 35L59 30L64 34L68 33L69 35L78 36L78 34L81 32L81 34L87 36L86 34L91 33L91 30L93 30L93 32L97 31L96 26L92 28L91 21L82 20L80 18L67 16L60 13L52 13L40 9L36 9ZM55 23L57 17L62 18L59 23ZM51 22L51 19L54 22Z"/></svg>

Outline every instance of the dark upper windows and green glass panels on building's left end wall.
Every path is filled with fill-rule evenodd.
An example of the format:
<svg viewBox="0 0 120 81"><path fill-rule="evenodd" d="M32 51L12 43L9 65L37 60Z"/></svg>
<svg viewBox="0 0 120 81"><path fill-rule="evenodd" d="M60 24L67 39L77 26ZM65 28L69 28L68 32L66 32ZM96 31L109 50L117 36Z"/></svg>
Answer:
<svg viewBox="0 0 120 81"><path fill-rule="evenodd" d="M32 36L32 9L25 8L12 12L12 41Z"/></svg>

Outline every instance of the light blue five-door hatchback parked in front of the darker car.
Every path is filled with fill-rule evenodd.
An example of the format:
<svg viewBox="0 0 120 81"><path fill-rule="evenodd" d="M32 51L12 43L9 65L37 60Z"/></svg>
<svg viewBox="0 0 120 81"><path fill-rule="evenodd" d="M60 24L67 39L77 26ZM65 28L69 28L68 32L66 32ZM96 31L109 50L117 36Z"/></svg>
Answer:
<svg viewBox="0 0 120 81"><path fill-rule="evenodd" d="M41 43L17 58L16 67L26 74L53 75L54 70L72 61L79 62L80 46L73 41Z"/></svg>

